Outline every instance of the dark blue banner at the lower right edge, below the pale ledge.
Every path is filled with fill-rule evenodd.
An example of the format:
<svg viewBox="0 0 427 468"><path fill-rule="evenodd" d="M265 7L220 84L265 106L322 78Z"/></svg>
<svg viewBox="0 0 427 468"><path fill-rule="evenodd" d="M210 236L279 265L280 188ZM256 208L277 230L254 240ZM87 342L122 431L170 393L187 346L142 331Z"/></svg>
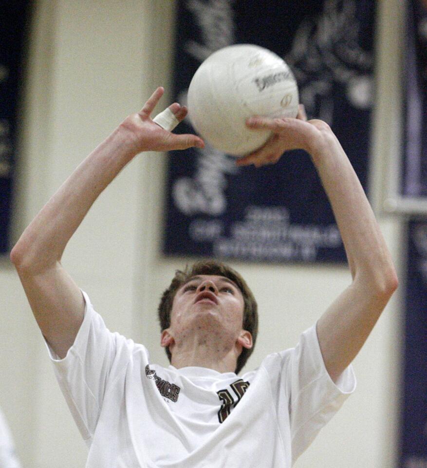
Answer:
<svg viewBox="0 0 427 468"><path fill-rule="evenodd" d="M400 467L427 467L427 220L408 227Z"/></svg>

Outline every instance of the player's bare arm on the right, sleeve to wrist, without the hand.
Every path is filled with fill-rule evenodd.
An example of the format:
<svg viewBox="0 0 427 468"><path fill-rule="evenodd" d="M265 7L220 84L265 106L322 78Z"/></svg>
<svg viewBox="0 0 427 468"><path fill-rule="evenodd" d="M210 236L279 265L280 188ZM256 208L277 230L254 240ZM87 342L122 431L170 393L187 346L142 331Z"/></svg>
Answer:
<svg viewBox="0 0 427 468"><path fill-rule="evenodd" d="M346 249L353 283L317 322L331 378L353 361L397 287L390 253L363 188L332 132L311 151Z"/></svg>

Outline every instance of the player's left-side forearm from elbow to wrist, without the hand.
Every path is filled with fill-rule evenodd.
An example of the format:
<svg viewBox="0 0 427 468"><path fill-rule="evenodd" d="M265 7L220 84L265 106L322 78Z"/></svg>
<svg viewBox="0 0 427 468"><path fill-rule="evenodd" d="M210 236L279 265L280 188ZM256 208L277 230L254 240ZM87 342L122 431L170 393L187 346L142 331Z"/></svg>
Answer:
<svg viewBox="0 0 427 468"><path fill-rule="evenodd" d="M11 258L42 272L55 265L93 202L135 155L118 127L75 169L21 235Z"/></svg>

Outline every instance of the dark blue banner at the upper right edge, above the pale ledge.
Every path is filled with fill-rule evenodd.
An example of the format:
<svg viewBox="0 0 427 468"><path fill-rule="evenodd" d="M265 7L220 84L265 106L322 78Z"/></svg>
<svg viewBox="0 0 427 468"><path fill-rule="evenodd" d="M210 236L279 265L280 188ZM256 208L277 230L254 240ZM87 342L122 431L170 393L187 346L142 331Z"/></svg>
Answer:
<svg viewBox="0 0 427 468"><path fill-rule="evenodd" d="M427 2L408 0L400 194L427 196Z"/></svg>

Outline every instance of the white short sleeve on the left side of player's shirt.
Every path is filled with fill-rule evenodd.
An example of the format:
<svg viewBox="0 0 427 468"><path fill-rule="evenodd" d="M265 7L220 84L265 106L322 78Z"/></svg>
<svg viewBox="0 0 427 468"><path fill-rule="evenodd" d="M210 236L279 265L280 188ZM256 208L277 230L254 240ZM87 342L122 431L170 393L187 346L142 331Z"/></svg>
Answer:
<svg viewBox="0 0 427 468"><path fill-rule="evenodd" d="M108 382L126 370L131 340L111 333L94 311L88 295L85 315L73 346L59 359L49 344L59 387L85 441L91 439L98 422Z"/></svg>

